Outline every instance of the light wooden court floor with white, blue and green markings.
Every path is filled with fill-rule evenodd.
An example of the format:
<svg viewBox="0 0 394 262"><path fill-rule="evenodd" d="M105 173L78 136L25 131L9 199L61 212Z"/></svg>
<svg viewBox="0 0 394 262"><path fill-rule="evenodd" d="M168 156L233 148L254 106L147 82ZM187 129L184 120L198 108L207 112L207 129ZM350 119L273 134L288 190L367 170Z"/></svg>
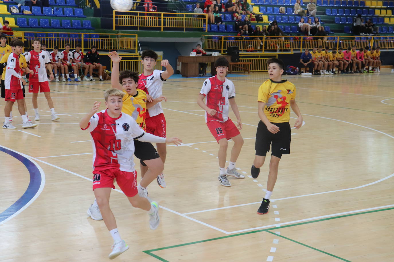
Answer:
<svg viewBox="0 0 394 262"><path fill-rule="evenodd" d="M269 213L258 215L268 164L256 180L250 167L257 89L267 78L230 77L245 139L236 166L246 177L230 178L229 188L217 180L218 145L196 103L204 78L164 83L167 135L184 145L167 147L167 188L149 186L162 207L157 230L145 211L112 192L130 246L116 261L394 261L394 74L284 77L296 85L305 125L293 129ZM94 200L92 148L78 123L110 84L50 86L59 121L50 121L39 95L37 128L22 129L14 117L17 130L0 131L0 261L107 261L112 238L103 221L86 214ZM33 115L30 94L26 101Z"/></svg>

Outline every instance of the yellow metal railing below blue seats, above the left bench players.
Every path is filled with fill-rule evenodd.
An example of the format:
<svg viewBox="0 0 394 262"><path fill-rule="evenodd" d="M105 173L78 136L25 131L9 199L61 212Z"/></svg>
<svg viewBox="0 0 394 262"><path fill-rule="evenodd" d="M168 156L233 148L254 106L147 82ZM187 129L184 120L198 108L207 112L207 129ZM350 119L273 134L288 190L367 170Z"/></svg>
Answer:
<svg viewBox="0 0 394 262"><path fill-rule="evenodd" d="M39 38L48 49L53 49L54 46L64 49L65 44L69 43L71 49L75 49L76 44L81 44L84 53L92 46L96 46L98 51L125 50L138 53L138 36L136 34L14 31L14 35L15 33L21 34L22 40L29 47L32 46L34 38Z"/></svg>

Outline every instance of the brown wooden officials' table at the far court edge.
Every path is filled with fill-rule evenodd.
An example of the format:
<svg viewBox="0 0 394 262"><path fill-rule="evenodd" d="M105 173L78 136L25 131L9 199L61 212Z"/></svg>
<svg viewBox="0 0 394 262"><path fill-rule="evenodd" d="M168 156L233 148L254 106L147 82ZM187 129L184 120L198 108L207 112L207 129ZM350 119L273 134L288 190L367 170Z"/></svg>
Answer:
<svg viewBox="0 0 394 262"><path fill-rule="evenodd" d="M225 57L229 62L231 61L230 55L220 55L217 57L200 55L190 57L186 55L178 56L178 61L182 63L181 74L182 77L197 77L199 72L199 63L211 63L211 75L216 75L214 62L219 57Z"/></svg>

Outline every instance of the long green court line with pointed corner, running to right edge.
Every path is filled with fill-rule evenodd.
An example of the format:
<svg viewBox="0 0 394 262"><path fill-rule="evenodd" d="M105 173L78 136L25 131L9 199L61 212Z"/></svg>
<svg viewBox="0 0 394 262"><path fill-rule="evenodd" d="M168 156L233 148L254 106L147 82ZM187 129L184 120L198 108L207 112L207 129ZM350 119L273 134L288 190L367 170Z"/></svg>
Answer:
<svg viewBox="0 0 394 262"><path fill-rule="evenodd" d="M178 245L174 245L174 246L149 249L149 250L145 250L143 252L148 254L148 255L150 255L150 256L152 256L152 257L155 257L155 258L157 258L157 259L159 259L161 261L167 261L167 260L165 260L162 257L154 255L152 252L160 251L160 250L164 250L164 249L175 248L175 247L182 247L182 246L188 246L188 245L193 245L193 244L199 244L199 243L204 243L204 242L209 242L209 241L219 240L219 239L224 239L224 238L230 238L230 237L234 237L234 236L248 235L248 234L264 232L264 231L268 231L268 230L274 230L274 229L276 230L276 229L281 229L281 228L286 228L286 227L294 227L294 226L297 226L297 225L311 224L311 223L321 222L321 221L325 221L325 220L331 220L331 219L336 219L336 218L344 218L344 217L348 217L348 216L356 216L356 215L361 215L361 214L369 214L369 213L375 213L375 212L380 212L380 211L387 211L387 210L392 210L392 209L394 209L394 207L388 207L388 208L384 208L384 209L376 209L376 210L364 211L364 212L359 212L359 213L354 213L354 214L346 214L346 215L342 215L342 216L333 216L331 218L322 218L322 219L318 219L318 220L301 222L301 223L292 224L292 225L283 225L283 226L280 226L280 227L271 227L271 228L267 228L267 229L260 229L260 230L255 230L255 231L238 233L238 234L229 235L229 236L219 236L219 237L216 237L216 238L210 238L210 239L199 240L199 241L194 241L194 242L189 242L189 243L184 243L184 244L178 244ZM269 233L271 233L271 232L269 232ZM299 243L299 244L301 244L301 243ZM345 260L345 261L348 261L348 260Z"/></svg>

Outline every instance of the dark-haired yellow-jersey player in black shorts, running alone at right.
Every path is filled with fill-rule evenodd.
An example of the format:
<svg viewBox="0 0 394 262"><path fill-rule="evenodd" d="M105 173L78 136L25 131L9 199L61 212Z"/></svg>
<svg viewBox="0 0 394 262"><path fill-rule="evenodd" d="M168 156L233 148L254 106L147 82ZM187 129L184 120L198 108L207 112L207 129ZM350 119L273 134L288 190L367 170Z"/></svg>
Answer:
<svg viewBox="0 0 394 262"><path fill-rule="evenodd" d="M269 79L258 89L258 116L260 122L256 132L256 156L251 168L253 178L257 178L260 167L264 164L267 152L271 147L269 174L266 195L261 202L257 214L266 214L278 176L278 166L282 154L290 154L290 107L297 115L294 127L302 126L302 115L296 104L296 86L287 80L282 80L284 64L282 60L271 58L268 60Z"/></svg>

